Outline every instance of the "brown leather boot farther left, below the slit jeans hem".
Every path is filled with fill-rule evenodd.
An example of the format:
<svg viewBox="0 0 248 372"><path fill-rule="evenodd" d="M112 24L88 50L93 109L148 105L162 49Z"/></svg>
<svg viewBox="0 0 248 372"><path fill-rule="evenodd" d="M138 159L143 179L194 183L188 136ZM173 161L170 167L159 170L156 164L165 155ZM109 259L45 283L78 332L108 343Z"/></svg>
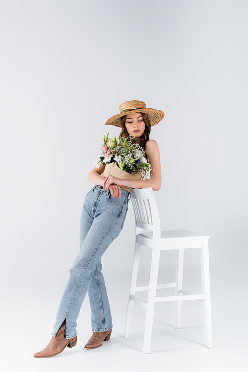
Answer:
<svg viewBox="0 0 248 372"><path fill-rule="evenodd" d="M56 336L52 337L49 344L46 346L46 348L39 353L35 353L35 358L49 358L54 357L55 355L58 355L62 353L64 348L68 346L68 348L73 348L77 343L77 336L73 338L66 339L65 338L65 322L62 323L60 329L56 333Z"/></svg>

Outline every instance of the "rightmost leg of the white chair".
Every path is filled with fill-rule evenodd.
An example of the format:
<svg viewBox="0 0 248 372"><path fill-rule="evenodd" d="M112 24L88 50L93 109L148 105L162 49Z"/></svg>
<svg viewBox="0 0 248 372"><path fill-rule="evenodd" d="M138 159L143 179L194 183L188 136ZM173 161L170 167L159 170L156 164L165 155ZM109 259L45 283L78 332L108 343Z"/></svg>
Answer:
<svg viewBox="0 0 248 372"><path fill-rule="evenodd" d="M212 344L212 320L211 320L208 239L202 240L200 263L201 263L202 293L205 295L205 299L203 299L205 345L207 348L212 348L213 344Z"/></svg>

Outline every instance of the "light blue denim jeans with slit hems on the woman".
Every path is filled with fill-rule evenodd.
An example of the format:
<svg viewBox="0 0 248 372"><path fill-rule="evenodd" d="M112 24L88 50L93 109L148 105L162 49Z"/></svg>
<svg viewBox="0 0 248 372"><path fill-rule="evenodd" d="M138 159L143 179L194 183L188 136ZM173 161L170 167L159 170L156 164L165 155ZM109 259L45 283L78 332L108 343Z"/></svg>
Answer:
<svg viewBox="0 0 248 372"><path fill-rule="evenodd" d="M101 272L101 257L120 234L128 207L129 192L114 199L103 186L94 186L86 195L80 221L80 250L70 269L59 306L53 336L66 319L65 338L77 335L76 320L88 292L93 332L112 328L110 305Z"/></svg>

